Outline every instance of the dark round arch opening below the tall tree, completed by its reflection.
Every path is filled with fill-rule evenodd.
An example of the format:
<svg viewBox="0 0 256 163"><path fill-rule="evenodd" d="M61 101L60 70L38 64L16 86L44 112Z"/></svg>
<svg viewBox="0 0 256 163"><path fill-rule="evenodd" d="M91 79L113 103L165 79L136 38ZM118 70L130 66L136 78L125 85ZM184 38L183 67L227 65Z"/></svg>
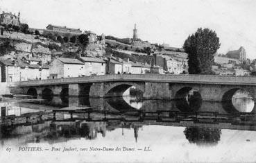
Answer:
<svg viewBox="0 0 256 163"><path fill-rule="evenodd" d="M175 95L176 107L182 112L199 110L202 105L202 96L193 87L182 87Z"/></svg>

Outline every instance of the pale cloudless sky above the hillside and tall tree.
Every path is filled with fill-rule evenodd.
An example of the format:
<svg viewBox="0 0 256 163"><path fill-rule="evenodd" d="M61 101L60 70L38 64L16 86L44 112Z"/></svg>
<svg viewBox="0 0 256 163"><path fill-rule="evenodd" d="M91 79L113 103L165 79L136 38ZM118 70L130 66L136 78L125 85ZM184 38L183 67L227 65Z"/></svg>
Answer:
<svg viewBox="0 0 256 163"><path fill-rule="evenodd" d="M216 31L227 53L244 46L256 58L255 0L0 0L0 12L21 12L31 28L48 24L80 28L97 35L138 37L182 47L197 28Z"/></svg>

